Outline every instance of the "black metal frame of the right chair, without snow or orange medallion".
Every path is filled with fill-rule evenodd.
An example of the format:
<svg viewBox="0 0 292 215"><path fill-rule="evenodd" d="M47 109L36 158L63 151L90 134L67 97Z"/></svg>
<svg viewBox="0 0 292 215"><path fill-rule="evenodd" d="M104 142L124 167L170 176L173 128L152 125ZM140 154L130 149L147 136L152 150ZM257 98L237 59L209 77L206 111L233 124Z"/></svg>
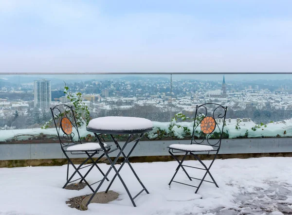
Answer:
<svg viewBox="0 0 292 215"><path fill-rule="evenodd" d="M215 143L211 143L211 139L214 135L214 133L216 132L216 128L214 131L212 131L211 133L209 134L204 134L204 133L201 133L201 135L199 136L199 139L195 139L195 132L196 132L196 128L198 126L201 125L201 121L210 115L210 113L208 112L208 109L207 107L209 106L215 106L214 107L214 110L211 111L212 114L211 116L214 118L214 119L223 119L223 122L221 123L222 125L219 126L219 124L216 122L215 120L215 124L216 124L216 128L219 129L219 133L220 133L220 136L219 136L219 139L218 141ZM184 185L187 185L187 186L191 186L191 187L196 187L196 192L197 193L201 187L201 184L203 181L206 181L206 182L209 182L209 183L214 183L216 185L216 187L219 187L218 184L216 183L215 179L213 178L213 176L211 175L210 173L210 169L219 153L219 149L220 149L220 145L221 145L221 139L222 139L222 134L223 134L223 128L224 128L224 125L225 125L225 117L226 117L226 112L227 112L227 107L223 107L219 104L216 104L216 103L206 103L206 104L202 104L200 106L197 105L196 107L196 113L195 113L195 120L194 120L194 126L193 126L193 133L192 133L192 140L191 140L191 144L201 144L201 145L210 145L212 146L213 150L208 150L208 151L188 151L188 150L181 150L181 149L173 149L173 148L169 148L168 152L169 154L176 160L178 161L179 165L178 167L176 168L176 171L172 177L172 179L170 180L170 182L168 183L168 185L170 186L170 184L172 182L176 182L176 183L180 183L180 184L184 184ZM199 121L199 122L198 122ZM201 137L201 139L200 139ZM216 140L216 139L213 139L213 140ZM207 143L205 143L207 142ZM174 153L181 153L181 152L184 152L184 156L183 156L183 159L182 161L180 161L178 159L178 156L177 155L174 155ZM211 161L210 165L209 166L206 166L202 161L201 159L198 157L199 154L210 154L210 152L215 152L214 157L213 157L213 160ZM186 159L186 156L187 155L191 155L192 157L194 157L197 161L199 161L201 163L201 165L204 167L204 168L199 168L199 167L195 167L195 166L189 166L189 165L183 165L183 161L185 161ZM189 167L189 168L195 168L195 169L200 169L200 170L204 170L206 171L204 176L201 178L201 179L198 179L198 178L194 178L194 177L190 177L189 174L187 173L187 171L185 170L184 167ZM187 178L189 180L192 181L192 179L196 179L196 180L200 180L200 183L198 186L194 186L194 185L191 185L191 184L186 184L186 183L182 183L182 182L179 182L179 181L175 181L173 180L176 176L176 174L178 173L179 169L182 168L183 169L183 172L186 174ZM210 178L212 179L212 181L210 180L205 180L207 174L210 176Z"/></svg>

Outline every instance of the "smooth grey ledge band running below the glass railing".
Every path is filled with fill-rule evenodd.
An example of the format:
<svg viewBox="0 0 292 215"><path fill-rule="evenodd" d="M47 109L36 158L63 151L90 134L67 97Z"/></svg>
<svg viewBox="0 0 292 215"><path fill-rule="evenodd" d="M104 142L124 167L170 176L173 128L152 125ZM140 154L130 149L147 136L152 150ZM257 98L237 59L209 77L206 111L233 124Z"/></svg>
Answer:
<svg viewBox="0 0 292 215"><path fill-rule="evenodd" d="M141 141L131 154L133 157L168 156L170 144L189 144L190 140ZM114 143L107 142L114 145ZM123 145L123 143L122 143ZM113 146L114 147L114 146ZM127 154L130 147L125 149ZM239 138L222 139L219 154L287 153L292 152L292 138ZM112 152L116 156L118 151ZM70 155L85 158L82 155ZM60 143L2 143L0 160L65 159Z"/></svg>

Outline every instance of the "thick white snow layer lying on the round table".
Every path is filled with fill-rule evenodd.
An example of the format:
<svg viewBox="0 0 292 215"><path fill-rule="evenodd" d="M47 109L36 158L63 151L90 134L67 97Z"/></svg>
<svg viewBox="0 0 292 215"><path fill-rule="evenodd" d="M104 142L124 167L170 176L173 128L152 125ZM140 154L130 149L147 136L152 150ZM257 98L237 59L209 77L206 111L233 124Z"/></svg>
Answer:
<svg viewBox="0 0 292 215"><path fill-rule="evenodd" d="M153 123L139 117L106 116L92 119L87 127L97 130L143 130L152 128Z"/></svg>

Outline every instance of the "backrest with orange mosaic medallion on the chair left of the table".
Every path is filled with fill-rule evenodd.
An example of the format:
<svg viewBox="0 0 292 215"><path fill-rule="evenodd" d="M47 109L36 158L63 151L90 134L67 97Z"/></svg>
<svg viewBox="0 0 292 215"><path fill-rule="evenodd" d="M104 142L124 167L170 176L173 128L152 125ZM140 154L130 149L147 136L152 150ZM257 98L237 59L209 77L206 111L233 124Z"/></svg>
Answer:
<svg viewBox="0 0 292 215"><path fill-rule="evenodd" d="M61 147L81 143L73 107L57 105L50 109Z"/></svg>

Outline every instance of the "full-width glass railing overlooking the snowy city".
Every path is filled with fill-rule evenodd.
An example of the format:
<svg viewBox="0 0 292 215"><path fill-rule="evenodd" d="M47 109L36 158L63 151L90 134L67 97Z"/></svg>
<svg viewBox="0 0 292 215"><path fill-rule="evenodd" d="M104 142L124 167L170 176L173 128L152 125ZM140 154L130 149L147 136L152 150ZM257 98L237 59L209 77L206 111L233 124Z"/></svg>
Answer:
<svg viewBox="0 0 292 215"><path fill-rule="evenodd" d="M196 105L227 106L224 138L292 136L292 74L0 74L0 143L56 143L50 107L143 117L147 140L189 139ZM68 87L67 94L64 87ZM67 98L68 94L72 96ZM220 119L217 119L220 123ZM84 141L92 141L80 125Z"/></svg>

